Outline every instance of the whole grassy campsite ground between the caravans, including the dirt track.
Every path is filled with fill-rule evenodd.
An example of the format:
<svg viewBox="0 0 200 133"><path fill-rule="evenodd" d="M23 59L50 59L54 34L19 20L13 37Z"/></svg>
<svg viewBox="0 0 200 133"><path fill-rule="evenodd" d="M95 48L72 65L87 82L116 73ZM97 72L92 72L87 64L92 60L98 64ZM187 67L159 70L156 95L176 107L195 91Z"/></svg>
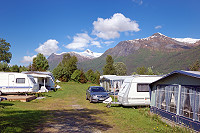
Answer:
<svg viewBox="0 0 200 133"><path fill-rule="evenodd" d="M45 99L0 103L0 132L189 132L170 127L149 108L106 108L85 100L94 84L60 83L61 89L45 93Z"/></svg>

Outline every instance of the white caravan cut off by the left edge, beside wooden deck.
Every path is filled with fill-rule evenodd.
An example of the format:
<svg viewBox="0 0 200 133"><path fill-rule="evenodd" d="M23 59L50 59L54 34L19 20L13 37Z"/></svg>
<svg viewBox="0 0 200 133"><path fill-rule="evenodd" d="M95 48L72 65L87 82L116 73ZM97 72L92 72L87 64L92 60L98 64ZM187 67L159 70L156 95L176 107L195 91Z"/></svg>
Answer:
<svg viewBox="0 0 200 133"><path fill-rule="evenodd" d="M14 72L0 72L0 95L2 93L28 93L39 90L31 75Z"/></svg>

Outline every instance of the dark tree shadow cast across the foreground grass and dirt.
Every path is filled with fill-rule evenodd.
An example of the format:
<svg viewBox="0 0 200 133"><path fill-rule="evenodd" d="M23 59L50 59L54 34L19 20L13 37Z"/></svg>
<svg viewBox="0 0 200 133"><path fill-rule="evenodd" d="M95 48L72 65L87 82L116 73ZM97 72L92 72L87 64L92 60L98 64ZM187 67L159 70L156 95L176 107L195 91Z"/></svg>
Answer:
<svg viewBox="0 0 200 133"><path fill-rule="evenodd" d="M112 128L96 115L96 109L28 110L0 112L0 132L84 132Z"/></svg>

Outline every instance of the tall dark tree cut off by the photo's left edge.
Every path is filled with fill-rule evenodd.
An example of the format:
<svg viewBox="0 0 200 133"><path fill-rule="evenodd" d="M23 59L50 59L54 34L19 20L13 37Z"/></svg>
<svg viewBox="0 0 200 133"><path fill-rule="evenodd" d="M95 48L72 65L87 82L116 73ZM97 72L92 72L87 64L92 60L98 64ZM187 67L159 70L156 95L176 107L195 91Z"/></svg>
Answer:
<svg viewBox="0 0 200 133"><path fill-rule="evenodd" d="M0 38L0 62L10 63L12 58L10 50L10 43L7 43L6 40Z"/></svg>

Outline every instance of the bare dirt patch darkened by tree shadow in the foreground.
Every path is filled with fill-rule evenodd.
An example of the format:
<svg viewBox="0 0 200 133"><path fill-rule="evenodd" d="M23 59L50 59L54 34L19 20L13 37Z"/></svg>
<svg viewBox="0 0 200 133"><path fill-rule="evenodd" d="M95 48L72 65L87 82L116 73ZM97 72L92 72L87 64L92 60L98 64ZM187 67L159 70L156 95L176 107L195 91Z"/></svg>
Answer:
<svg viewBox="0 0 200 133"><path fill-rule="evenodd" d="M97 114L106 112L83 108L77 104L71 105L71 107L71 109L49 111L46 122L40 125L41 127L38 127L35 132L101 133L112 128L96 117Z"/></svg>

